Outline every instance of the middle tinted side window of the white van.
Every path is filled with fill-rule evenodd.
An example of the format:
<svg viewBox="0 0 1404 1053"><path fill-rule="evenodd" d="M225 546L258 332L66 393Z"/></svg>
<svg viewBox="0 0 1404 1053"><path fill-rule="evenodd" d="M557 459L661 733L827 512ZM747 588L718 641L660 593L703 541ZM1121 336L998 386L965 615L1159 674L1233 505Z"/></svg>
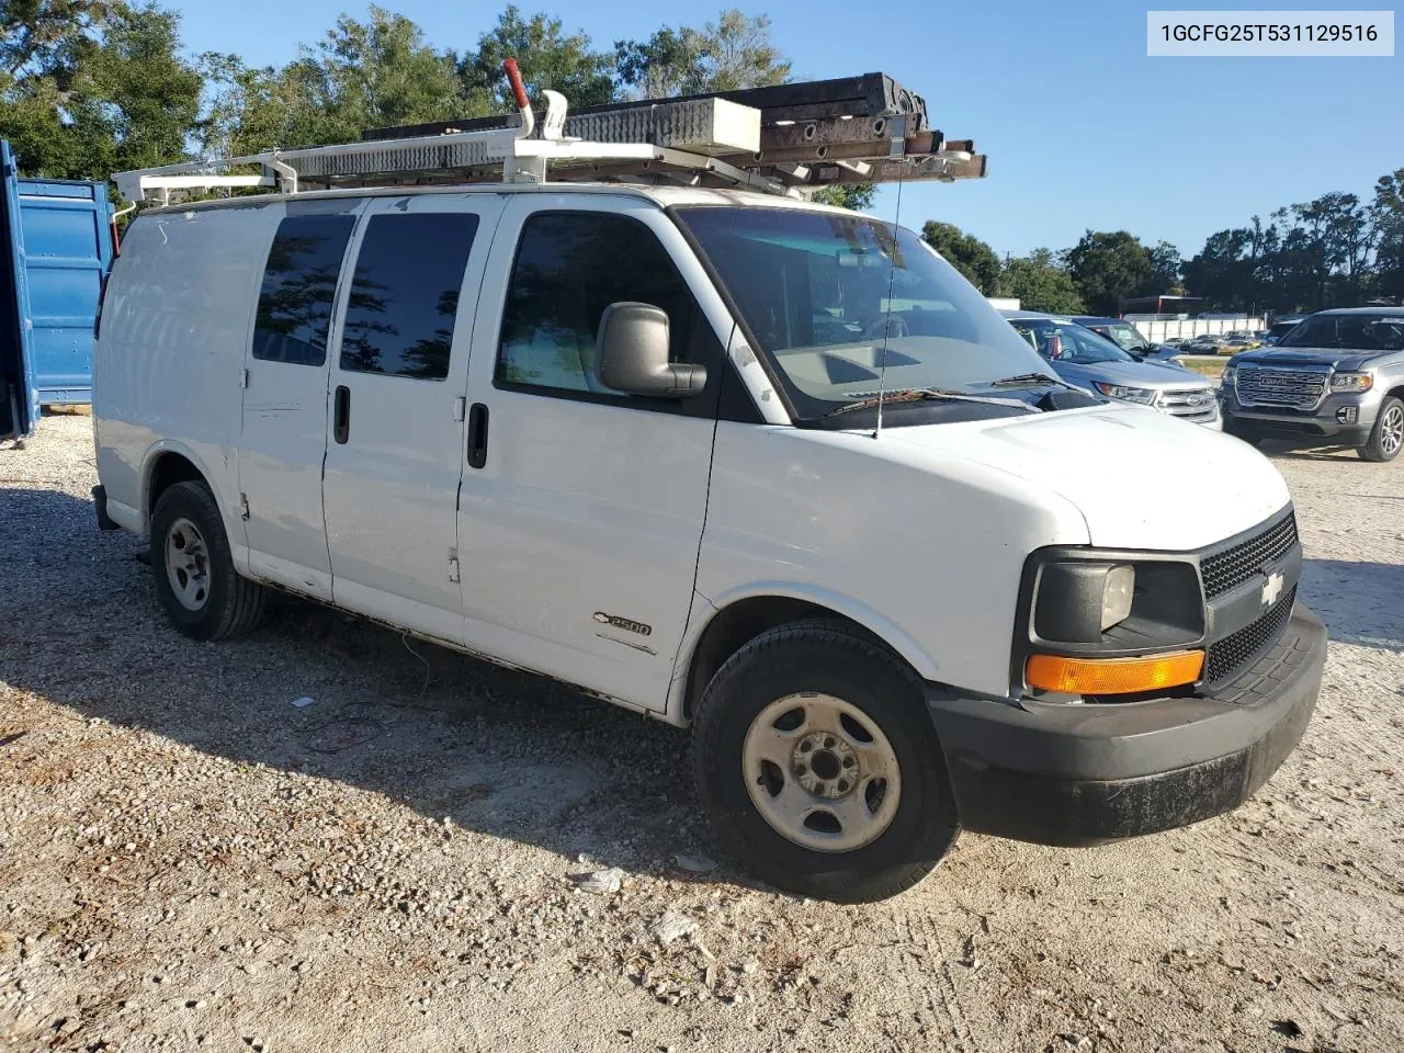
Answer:
<svg viewBox="0 0 1404 1053"><path fill-rule="evenodd" d="M477 216L466 212L371 218L341 331L343 369L448 376L458 293L476 233Z"/></svg>

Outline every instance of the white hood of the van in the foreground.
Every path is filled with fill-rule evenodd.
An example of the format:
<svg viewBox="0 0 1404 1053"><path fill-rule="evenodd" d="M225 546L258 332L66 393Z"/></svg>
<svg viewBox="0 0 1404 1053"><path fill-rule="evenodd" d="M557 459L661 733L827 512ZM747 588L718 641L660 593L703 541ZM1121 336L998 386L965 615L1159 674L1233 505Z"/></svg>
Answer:
<svg viewBox="0 0 1404 1053"><path fill-rule="evenodd" d="M965 458L1053 491L1092 545L1184 552L1241 534L1287 504L1278 469L1231 435L1136 406L883 431L939 463Z"/></svg>

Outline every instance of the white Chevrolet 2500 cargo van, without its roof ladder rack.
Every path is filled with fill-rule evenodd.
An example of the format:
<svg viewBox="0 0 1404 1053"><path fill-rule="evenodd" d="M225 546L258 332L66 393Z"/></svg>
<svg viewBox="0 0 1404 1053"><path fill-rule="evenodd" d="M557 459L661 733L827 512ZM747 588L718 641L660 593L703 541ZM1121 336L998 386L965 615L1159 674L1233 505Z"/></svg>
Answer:
<svg viewBox="0 0 1404 1053"><path fill-rule="evenodd" d="M804 201L174 205L105 293L97 511L197 639L274 587L691 726L747 868L868 900L962 827L1231 809L1313 712L1278 472L1045 369L917 236Z"/></svg>

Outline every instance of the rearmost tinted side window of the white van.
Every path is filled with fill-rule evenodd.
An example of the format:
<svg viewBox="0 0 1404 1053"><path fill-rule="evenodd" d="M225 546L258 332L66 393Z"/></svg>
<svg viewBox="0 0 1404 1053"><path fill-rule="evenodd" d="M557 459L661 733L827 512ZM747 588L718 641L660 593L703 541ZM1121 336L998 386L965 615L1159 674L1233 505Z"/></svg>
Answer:
<svg viewBox="0 0 1404 1053"><path fill-rule="evenodd" d="M288 216L264 265L254 320L254 358L323 365L341 258L355 216Z"/></svg>

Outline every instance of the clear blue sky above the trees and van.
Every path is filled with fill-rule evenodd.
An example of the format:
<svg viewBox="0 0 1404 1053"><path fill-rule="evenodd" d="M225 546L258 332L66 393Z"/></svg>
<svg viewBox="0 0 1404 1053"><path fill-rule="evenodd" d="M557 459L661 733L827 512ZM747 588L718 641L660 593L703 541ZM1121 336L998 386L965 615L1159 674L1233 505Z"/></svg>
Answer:
<svg viewBox="0 0 1404 1053"><path fill-rule="evenodd" d="M351 0L167 3L183 13L190 51L236 52L258 65L286 60L343 11L366 11ZM437 46L462 51L505 4L382 6L414 18ZM518 6L556 14L604 49L663 24L699 25L727 4ZM920 227L942 219L1001 254L1071 246L1088 227L1125 227L1189 257L1207 234L1254 213L1266 219L1279 205L1334 190L1367 197L1379 176L1404 167L1398 48L1394 58L1147 58L1148 4L1097 0L737 6L771 17L774 41L797 77L890 73L927 97L936 128L973 138L990 156L988 177L908 184L900 220ZM893 216L892 190L879 195L876 211Z"/></svg>

